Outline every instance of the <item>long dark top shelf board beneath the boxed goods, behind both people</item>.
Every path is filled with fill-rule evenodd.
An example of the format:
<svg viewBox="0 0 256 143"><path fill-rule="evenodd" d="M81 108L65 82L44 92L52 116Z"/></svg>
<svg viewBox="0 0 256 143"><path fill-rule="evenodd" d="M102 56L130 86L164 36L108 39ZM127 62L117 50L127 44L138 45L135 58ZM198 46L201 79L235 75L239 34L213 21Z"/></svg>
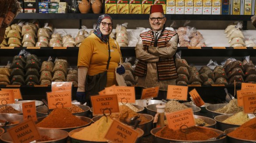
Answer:
<svg viewBox="0 0 256 143"><path fill-rule="evenodd" d="M97 19L101 14L20 13L15 19ZM149 14L109 14L115 20L148 20ZM168 20L238 20L250 21L252 15L166 14Z"/></svg>

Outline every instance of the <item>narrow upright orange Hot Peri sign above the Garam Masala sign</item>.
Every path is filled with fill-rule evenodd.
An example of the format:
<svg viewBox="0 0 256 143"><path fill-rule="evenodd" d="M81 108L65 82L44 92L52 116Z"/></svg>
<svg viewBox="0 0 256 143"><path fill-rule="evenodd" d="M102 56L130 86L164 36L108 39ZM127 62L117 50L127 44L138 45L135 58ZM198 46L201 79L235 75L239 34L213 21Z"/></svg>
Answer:
<svg viewBox="0 0 256 143"><path fill-rule="evenodd" d="M37 121L36 117L36 102L24 102L22 103L23 120L28 120L32 118Z"/></svg>

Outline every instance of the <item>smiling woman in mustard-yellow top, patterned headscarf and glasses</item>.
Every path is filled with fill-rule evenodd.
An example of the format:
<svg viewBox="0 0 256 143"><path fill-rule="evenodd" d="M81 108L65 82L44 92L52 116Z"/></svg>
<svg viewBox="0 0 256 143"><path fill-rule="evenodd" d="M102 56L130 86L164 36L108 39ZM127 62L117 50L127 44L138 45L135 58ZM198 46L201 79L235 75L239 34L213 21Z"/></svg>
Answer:
<svg viewBox="0 0 256 143"><path fill-rule="evenodd" d="M96 30L79 47L78 52L78 102L89 104L89 95L85 94L86 75L93 76L106 71L105 87L116 85L115 68L120 62L120 47L109 35L113 30L112 18L103 14L98 18ZM110 52L109 52L110 51ZM110 59L110 61L109 61ZM109 65L107 64L109 61ZM117 68L118 74L124 74L123 66ZM97 91L100 92L100 91Z"/></svg>

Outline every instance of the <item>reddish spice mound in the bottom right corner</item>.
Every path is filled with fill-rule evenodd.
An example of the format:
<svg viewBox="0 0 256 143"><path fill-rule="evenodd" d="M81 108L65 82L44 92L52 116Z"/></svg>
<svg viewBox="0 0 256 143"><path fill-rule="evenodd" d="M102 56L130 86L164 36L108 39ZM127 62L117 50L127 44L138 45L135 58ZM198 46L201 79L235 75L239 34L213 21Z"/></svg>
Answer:
<svg viewBox="0 0 256 143"><path fill-rule="evenodd" d="M228 133L228 136L242 140L256 141L256 118L250 119L248 122L242 124L233 132Z"/></svg>

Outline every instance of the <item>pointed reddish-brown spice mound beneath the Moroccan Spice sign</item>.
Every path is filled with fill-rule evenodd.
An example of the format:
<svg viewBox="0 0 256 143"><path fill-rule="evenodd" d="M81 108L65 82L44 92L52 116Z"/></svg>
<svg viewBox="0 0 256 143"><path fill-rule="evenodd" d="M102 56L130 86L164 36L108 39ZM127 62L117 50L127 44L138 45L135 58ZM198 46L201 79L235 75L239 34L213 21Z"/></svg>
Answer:
<svg viewBox="0 0 256 143"><path fill-rule="evenodd" d="M72 115L68 109L59 108L54 109L49 116L36 124L36 126L42 128L71 128L86 124L87 123L85 121Z"/></svg>

